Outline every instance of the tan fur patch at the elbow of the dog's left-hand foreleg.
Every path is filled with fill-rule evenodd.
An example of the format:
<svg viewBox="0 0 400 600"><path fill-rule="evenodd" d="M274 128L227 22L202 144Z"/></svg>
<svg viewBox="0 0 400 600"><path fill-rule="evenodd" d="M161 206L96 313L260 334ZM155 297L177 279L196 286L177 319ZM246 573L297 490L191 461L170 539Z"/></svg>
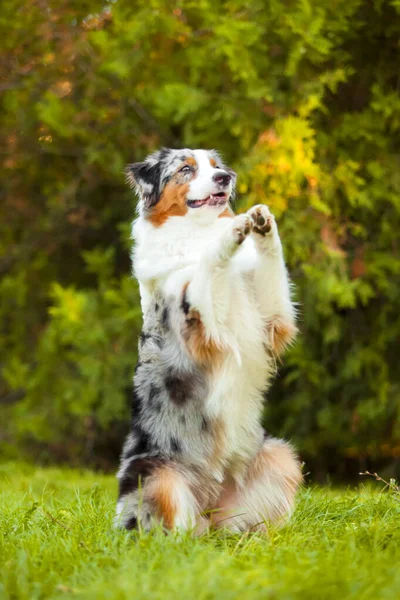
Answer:
<svg viewBox="0 0 400 600"><path fill-rule="evenodd" d="M183 289L183 296L188 285L187 283ZM210 368L215 368L221 363L222 348L214 340L207 339L198 310L189 308L189 312L185 315L182 336L187 350L198 363Z"/></svg>

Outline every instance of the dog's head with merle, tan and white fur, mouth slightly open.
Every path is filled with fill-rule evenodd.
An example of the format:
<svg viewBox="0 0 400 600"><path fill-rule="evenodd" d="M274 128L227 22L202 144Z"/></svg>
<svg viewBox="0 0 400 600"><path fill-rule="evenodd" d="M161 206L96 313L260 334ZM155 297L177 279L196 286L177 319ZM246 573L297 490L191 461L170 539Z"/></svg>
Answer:
<svg viewBox="0 0 400 600"><path fill-rule="evenodd" d="M128 165L126 175L139 195L139 212L156 226L170 216L219 216L227 210L236 181L214 150L186 148L158 150Z"/></svg>

